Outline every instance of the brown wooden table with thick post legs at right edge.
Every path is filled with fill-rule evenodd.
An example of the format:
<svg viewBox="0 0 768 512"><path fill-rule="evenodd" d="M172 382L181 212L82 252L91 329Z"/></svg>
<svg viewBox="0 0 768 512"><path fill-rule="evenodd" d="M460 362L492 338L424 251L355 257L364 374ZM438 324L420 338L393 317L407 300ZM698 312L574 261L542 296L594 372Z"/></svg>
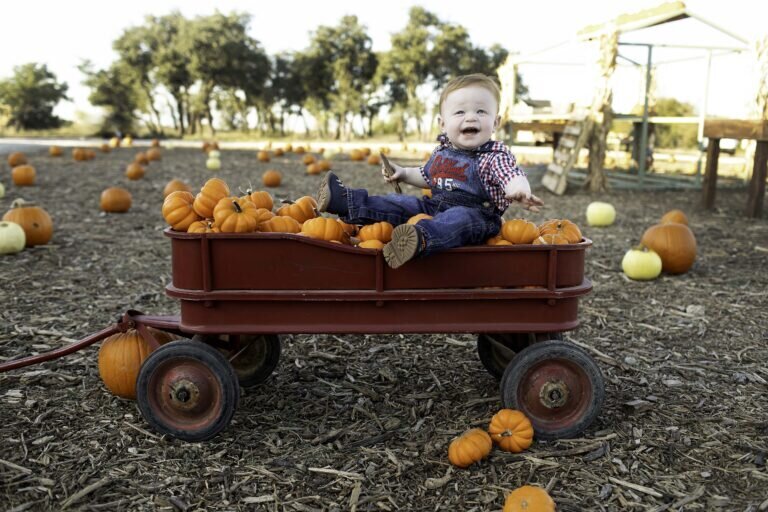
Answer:
<svg viewBox="0 0 768 512"><path fill-rule="evenodd" d="M748 217L760 217L765 198L765 179L768 174L768 121L745 119L707 119L704 121L704 136L709 138L707 166L704 171L702 205L707 210L715 207L717 187L717 159L720 156L720 139L750 139L757 141L755 165L749 183L747 207Z"/></svg>

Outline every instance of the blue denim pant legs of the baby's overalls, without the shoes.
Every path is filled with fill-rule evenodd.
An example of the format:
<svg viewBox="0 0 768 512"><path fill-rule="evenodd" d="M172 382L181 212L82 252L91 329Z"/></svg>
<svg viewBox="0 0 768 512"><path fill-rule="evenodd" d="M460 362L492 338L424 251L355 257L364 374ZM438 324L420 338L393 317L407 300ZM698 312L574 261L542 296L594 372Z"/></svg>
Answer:
<svg viewBox="0 0 768 512"><path fill-rule="evenodd" d="M431 215L432 219L416 224L426 243L421 256L452 247L485 243L501 229L501 214L490 201L482 203L455 193L419 199L402 194L369 196L365 189L347 188L347 203L348 215L341 219L348 224L387 221L399 226L419 213Z"/></svg>

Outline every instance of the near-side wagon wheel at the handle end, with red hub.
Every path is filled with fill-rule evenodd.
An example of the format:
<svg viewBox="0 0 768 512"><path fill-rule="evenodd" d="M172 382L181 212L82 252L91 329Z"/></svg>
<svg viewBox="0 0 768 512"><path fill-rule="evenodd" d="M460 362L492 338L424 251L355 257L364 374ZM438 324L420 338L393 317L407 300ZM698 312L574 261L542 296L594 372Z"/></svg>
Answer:
<svg viewBox="0 0 768 512"><path fill-rule="evenodd" d="M229 361L203 343L167 343L144 361L136 380L141 415L161 434L205 441L232 419L240 398Z"/></svg>

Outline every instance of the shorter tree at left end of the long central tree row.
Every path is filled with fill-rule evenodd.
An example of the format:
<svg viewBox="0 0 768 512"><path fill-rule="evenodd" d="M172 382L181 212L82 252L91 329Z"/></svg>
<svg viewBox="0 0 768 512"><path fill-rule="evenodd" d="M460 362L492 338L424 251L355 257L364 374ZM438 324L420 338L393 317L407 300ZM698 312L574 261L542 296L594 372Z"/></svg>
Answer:
<svg viewBox="0 0 768 512"><path fill-rule="evenodd" d="M88 101L107 111L102 134L134 133L136 111L142 107L144 96L133 81L133 70L123 61L113 62L108 69L99 71L94 71L91 63L85 61L79 69L86 76L83 84L91 88Z"/></svg>

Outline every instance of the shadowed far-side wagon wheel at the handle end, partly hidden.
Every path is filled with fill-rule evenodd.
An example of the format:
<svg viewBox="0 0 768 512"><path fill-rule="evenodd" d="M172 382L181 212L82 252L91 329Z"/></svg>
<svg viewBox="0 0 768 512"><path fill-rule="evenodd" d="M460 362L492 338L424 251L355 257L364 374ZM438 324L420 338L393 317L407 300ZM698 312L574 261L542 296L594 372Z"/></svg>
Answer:
<svg viewBox="0 0 768 512"><path fill-rule="evenodd" d="M192 340L218 348L230 360L244 388L264 382L280 361L280 338L275 334L196 334Z"/></svg>

